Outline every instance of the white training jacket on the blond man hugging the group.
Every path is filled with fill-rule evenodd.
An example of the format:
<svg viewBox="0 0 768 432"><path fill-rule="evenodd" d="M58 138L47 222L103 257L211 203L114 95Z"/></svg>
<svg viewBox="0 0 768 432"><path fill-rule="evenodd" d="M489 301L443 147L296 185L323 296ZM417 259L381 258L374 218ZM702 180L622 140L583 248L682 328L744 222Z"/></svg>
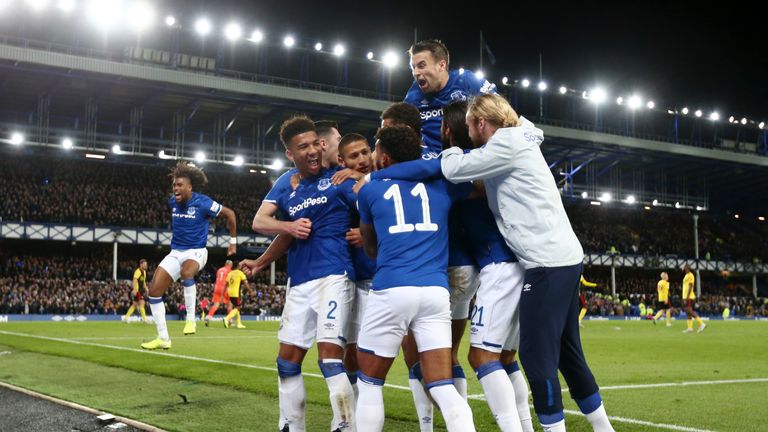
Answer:
<svg viewBox="0 0 768 432"><path fill-rule="evenodd" d="M484 181L499 231L526 269L579 264L584 250L539 148L544 133L524 117L520 121L468 153L444 150L443 175L453 183Z"/></svg>

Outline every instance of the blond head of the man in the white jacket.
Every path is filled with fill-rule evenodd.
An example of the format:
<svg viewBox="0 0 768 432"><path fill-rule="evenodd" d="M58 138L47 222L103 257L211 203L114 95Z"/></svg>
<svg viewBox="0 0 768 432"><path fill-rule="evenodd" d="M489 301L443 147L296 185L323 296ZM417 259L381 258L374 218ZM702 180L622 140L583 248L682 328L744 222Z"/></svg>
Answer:
<svg viewBox="0 0 768 432"><path fill-rule="evenodd" d="M517 126L519 122L515 110L498 94L475 96L467 108L469 137L477 147L488 142L496 129Z"/></svg>

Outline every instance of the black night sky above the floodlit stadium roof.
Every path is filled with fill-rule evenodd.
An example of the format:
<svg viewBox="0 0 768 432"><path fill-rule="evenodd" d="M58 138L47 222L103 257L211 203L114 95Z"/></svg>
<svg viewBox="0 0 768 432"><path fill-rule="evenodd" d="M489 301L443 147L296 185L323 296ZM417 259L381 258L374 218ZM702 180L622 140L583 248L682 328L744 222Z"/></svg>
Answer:
<svg viewBox="0 0 768 432"><path fill-rule="evenodd" d="M705 112L768 120L768 34L761 10L701 2L204 1L169 2L219 22L237 18L278 36L338 39L352 52L392 46L407 49L418 37L437 37L451 50L452 66L476 69L479 32L497 58L486 75L498 82L538 76L543 55L550 87L603 85L612 99L633 91L660 107L687 105ZM616 4L621 3L621 4ZM178 5L178 6L177 6ZM487 65L487 60L486 60ZM406 70L401 73L407 74ZM393 89L393 92L396 91Z"/></svg>

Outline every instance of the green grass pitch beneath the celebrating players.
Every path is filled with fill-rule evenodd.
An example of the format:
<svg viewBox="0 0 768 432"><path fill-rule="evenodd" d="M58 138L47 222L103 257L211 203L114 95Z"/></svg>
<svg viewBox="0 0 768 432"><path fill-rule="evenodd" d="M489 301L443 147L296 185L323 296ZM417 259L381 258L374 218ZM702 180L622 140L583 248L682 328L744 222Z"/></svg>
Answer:
<svg viewBox="0 0 768 432"><path fill-rule="evenodd" d="M196 335L184 337L182 323L170 322L173 349L152 353L139 349L154 337L152 325L1 323L0 381L167 430L275 431L277 323L246 324L200 324ZM587 360L617 431L768 430L768 322L714 321L694 335L681 333L681 321L672 328L648 321L585 325ZM316 360L311 351L303 368L307 427L327 431L331 410ZM498 430L466 362L464 368L478 431ZM387 384L385 430L417 431L401 360ZM567 393L564 400L568 430L590 431ZM437 417L436 430L444 430Z"/></svg>

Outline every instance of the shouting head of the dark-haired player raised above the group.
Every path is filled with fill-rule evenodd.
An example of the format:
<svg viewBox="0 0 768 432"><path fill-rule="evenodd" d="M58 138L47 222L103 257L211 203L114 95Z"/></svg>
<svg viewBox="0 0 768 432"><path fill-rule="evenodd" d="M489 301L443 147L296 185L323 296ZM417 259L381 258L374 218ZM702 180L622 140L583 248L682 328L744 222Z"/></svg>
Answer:
<svg viewBox="0 0 768 432"><path fill-rule="evenodd" d="M437 93L448 84L448 48L437 39L416 42L408 50L411 73L424 93Z"/></svg>

